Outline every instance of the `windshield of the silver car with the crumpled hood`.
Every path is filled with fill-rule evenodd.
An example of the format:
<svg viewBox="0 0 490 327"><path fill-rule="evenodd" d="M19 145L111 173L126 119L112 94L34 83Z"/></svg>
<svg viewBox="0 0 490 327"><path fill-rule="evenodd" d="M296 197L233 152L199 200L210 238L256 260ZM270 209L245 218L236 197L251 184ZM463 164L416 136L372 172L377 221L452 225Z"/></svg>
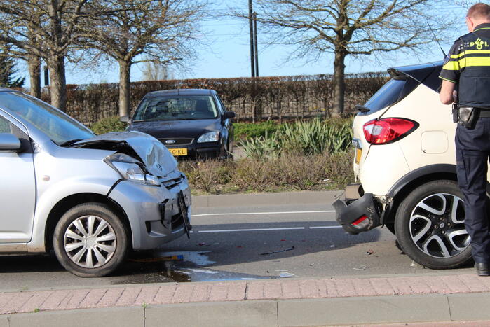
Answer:
<svg viewBox="0 0 490 327"><path fill-rule="evenodd" d="M95 136L73 118L20 92L0 92L0 107L24 118L58 145Z"/></svg>

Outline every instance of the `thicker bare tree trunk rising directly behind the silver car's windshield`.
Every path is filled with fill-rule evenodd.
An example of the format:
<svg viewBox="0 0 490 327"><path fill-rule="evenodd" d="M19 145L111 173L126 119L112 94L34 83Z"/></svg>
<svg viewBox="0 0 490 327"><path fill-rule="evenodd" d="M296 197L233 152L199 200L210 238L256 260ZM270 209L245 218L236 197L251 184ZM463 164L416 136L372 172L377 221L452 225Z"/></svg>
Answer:
<svg viewBox="0 0 490 327"><path fill-rule="evenodd" d="M48 60L51 105L67 111L67 79L64 76L64 57L53 56Z"/></svg>

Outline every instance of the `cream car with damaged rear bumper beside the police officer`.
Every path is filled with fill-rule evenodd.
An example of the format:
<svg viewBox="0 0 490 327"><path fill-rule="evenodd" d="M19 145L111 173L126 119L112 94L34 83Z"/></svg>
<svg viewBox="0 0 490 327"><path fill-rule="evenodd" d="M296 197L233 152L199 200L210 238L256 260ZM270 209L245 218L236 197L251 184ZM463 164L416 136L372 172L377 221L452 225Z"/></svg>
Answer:
<svg viewBox="0 0 490 327"><path fill-rule="evenodd" d="M390 81L357 106L358 183L334 202L344 230L358 234L386 225L410 258L433 269L471 260L456 181L456 124L438 94L441 67L436 62L388 69Z"/></svg>

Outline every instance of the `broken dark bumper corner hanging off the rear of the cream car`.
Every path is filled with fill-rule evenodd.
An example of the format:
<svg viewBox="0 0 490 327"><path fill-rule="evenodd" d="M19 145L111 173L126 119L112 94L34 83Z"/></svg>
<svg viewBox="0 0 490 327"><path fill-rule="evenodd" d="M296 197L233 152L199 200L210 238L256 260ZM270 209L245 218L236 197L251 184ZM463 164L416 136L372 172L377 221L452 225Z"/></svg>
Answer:
<svg viewBox="0 0 490 327"><path fill-rule="evenodd" d="M332 204L336 220L343 230L352 235L381 226L379 206L372 193L361 193L360 184L351 184L339 200Z"/></svg>

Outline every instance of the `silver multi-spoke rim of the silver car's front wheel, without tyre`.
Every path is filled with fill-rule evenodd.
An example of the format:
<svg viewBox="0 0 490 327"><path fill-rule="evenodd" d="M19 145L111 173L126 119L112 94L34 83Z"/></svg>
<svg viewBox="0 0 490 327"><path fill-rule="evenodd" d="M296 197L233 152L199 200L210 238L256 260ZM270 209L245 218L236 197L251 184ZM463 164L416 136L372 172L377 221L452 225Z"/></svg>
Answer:
<svg viewBox="0 0 490 327"><path fill-rule="evenodd" d="M85 268L97 268L111 260L116 251L116 233L103 218L76 218L64 232L64 250L70 260Z"/></svg>

